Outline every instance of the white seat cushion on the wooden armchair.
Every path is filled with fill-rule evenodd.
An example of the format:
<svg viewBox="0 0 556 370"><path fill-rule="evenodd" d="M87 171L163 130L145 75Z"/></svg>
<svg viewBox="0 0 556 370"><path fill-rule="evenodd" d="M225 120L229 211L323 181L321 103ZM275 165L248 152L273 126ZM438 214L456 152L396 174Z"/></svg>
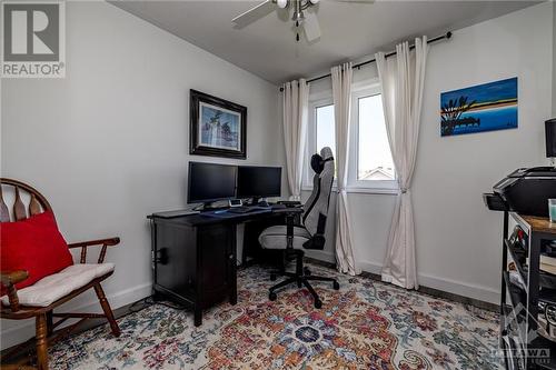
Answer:
<svg viewBox="0 0 556 370"><path fill-rule="evenodd" d="M113 263L72 264L60 272L42 278L32 286L18 289L19 304L47 307L111 271L113 271ZM2 297L2 304L10 304L8 296Z"/></svg>

